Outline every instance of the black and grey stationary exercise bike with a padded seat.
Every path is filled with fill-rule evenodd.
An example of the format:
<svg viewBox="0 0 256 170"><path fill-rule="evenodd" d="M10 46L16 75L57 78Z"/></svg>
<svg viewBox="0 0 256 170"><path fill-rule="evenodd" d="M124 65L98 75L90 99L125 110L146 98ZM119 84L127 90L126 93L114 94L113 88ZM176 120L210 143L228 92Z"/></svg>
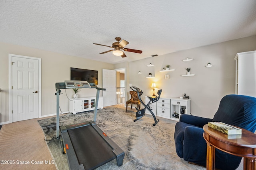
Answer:
<svg viewBox="0 0 256 170"><path fill-rule="evenodd" d="M148 109L148 111L150 111L151 115L154 118L155 123L153 124L153 126L156 126L156 124L159 122L159 119L156 120L156 116L154 115L154 113L152 112L152 110L150 109L150 103L155 103L160 99L160 95L162 93L162 89L157 91L158 96L153 95L153 96L148 96L149 102L146 105L140 98L140 96L142 95L142 90L140 90L138 87L132 86L130 87L133 91L137 92L138 98L140 100L140 102L142 103L142 105L145 107L144 109L138 109L137 107L135 107L135 109L137 110L136 112L136 119L134 120L134 122L138 121L140 118L145 116L145 111L146 109Z"/></svg>

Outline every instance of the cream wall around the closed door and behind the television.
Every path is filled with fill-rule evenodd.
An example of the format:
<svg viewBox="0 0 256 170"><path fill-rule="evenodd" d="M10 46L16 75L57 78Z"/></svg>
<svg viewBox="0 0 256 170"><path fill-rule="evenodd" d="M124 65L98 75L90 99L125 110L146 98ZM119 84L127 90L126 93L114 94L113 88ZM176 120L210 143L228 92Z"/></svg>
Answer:
<svg viewBox="0 0 256 170"><path fill-rule="evenodd" d="M114 69L109 63L0 42L0 124L9 121L9 53L42 59L42 116L56 114L55 83L70 80L70 67L98 70L98 87L102 87L102 69ZM72 97L71 89L66 92ZM63 89L63 95L60 95L62 112L69 110L66 92ZM95 96L96 89L83 89L79 94Z"/></svg>

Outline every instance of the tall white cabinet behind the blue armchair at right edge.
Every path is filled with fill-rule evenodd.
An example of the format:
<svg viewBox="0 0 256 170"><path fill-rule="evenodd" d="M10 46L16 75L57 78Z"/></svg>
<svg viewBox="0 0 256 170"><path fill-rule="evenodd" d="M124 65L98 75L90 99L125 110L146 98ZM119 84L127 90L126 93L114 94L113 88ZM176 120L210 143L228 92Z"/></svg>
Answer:
<svg viewBox="0 0 256 170"><path fill-rule="evenodd" d="M237 95L256 97L256 51L237 53L236 57Z"/></svg>

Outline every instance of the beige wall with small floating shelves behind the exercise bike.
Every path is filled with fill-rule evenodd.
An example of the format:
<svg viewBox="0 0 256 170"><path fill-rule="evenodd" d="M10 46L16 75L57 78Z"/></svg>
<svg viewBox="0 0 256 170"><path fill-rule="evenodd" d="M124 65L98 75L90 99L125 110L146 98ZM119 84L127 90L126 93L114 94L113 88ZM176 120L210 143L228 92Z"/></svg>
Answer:
<svg viewBox="0 0 256 170"><path fill-rule="evenodd" d="M144 91L143 99L145 95L153 94L150 89L153 82L158 89L162 89L162 96L180 97L186 93L191 99L192 115L213 118L220 99L224 95L235 93L236 53L253 50L256 50L256 36L148 57L130 62L129 83ZM194 60L182 61L186 57ZM206 68L208 62L213 66ZM150 63L154 67L147 67ZM167 64L175 71L159 72ZM195 76L182 77L182 74L186 74L186 67L191 67L190 72ZM138 74L138 71L142 74ZM150 72L155 78L146 78ZM164 79L166 74L170 79Z"/></svg>

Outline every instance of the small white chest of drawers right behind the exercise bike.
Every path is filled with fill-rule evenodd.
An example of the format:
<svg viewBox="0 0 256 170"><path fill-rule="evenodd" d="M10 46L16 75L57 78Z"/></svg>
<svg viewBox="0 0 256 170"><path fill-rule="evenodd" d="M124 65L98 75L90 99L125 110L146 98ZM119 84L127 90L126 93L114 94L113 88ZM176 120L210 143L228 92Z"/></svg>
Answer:
<svg viewBox="0 0 256 170"><path fill-rule="evenodd" d="M170 119L170 104L170 99L161 97L157 102L156 115L159 117Z"/></svg>

